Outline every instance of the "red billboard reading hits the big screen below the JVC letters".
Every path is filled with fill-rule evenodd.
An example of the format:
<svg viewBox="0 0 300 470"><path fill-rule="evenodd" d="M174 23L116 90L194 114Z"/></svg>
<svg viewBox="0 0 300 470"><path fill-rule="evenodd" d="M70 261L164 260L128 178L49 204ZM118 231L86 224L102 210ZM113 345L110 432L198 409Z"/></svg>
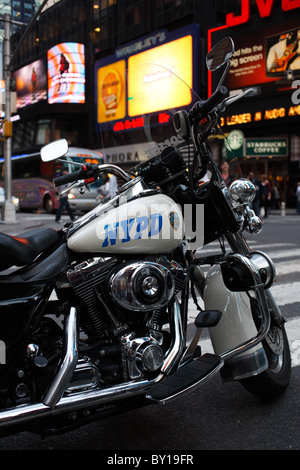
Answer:
<svg viewBox="0 0 300 470"><path fill-rule="evenodd" d="M255 31L235 34L226 26L209 30L209 45L231 36L235 52L225 85L230 91L253 87L256 95L291 93L292 82L300 76L300 21L271 24ZM215 89L215 75L209 74L209 94Z"/></svg>

